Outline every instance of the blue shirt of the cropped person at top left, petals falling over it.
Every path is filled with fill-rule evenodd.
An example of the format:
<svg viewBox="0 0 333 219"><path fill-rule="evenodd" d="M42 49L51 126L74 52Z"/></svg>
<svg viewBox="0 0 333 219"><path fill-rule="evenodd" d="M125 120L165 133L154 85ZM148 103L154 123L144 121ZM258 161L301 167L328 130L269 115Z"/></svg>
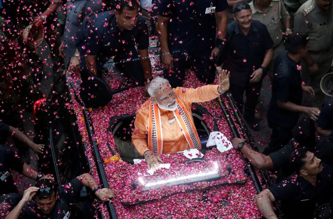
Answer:
<svg viewBox="0 0 333 219"><path fill-rule="evenodd" d="M102 10L101 0L71 0L66 7L67 20L65 31L63 34L63 53L65 57L65 66L68 65L70 59L76 50L76 41L79 31L83 31L83 20Z"/></svg>

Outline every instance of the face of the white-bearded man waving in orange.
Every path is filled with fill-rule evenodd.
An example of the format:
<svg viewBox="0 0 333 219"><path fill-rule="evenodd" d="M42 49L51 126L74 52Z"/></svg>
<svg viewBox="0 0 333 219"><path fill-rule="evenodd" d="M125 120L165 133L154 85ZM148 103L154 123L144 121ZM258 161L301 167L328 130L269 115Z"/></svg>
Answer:
<svg viewBox="0 0 333 219"><path fill-rule="evenodd" d="M174 111L177 107L175 93L170 84L162 84L154 93L154 100L160 108Z"/></svg>

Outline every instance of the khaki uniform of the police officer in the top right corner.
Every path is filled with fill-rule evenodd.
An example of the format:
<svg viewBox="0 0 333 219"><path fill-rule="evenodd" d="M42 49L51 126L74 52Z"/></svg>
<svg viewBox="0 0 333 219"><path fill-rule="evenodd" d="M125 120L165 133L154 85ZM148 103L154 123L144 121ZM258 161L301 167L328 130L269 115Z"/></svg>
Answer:
<svg viewBox="0 0 333 219"><path fill-rule="evenodd" d="M295 14L294 31L306 32L309 36L309 55L317 63L319 71L310 73L302 61L302 77L314 89L312 105L321 108L325 95L320 90L320 80L331 72L333 57L333 7L324 13L316 0L306 1Z"/></svg>

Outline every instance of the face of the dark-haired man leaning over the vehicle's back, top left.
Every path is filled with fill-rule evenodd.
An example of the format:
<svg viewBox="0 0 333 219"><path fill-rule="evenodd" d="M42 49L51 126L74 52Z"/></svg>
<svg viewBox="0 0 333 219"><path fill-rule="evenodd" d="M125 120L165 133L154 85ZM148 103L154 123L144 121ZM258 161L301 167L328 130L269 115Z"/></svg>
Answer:
<svg viewBox="0 0 333 219"><path fill-rule="evenodd" d="M133 30L138 22L139 10L127 10L126 7L121 13L115 12L117 25L120 29Z"/></svg>

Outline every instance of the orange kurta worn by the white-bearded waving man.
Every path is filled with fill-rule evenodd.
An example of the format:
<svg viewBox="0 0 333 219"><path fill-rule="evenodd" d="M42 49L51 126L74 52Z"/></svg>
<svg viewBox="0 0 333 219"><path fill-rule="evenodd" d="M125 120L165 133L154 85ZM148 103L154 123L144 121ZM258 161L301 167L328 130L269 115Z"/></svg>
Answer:
<svg viewBox="0 0 333 219"><path fill-rule="evenodd" d="M191 112L193 102L206 102L219 97L218 85L205 85L199 88L174 88L176 98L180 99L186 109ZM138 150L139 154L148 149L148 119L149 119L149 100L144 102L138 110L134 122L134 131L132 134L132 143ZM163 132L163 153L174 154L178 151L190 149L183 132L177 121L173 125L169 120L173 119L173 113L169 110L160 109L162 132ZM192 118L193 119L193 118Z"/></svg>

